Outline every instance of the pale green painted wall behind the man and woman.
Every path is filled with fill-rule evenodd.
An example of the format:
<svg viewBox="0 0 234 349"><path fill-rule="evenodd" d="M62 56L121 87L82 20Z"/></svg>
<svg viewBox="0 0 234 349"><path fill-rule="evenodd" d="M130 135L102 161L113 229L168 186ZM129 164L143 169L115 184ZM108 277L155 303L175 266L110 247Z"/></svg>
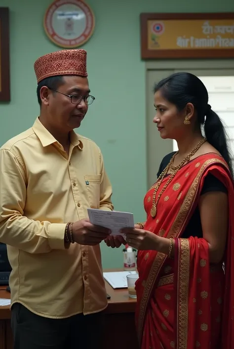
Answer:
<svg viewBox="0 0 234 349"><path fill-rule="evenodd" d="M33 64L59 50L45 36L44 12L52 0L0 0L10 8L11 102L0 103L0 145L30 127L39 107ZM234 0L87 0L96 28L82 47L96 97L79 133L101 148L113 184L116 210L145 218L146 193L145 65L140 59L141 12L227 12ZM152 115L153 117L153 115ZM102 245L103 266L121 267L121 249Z"/></svg>

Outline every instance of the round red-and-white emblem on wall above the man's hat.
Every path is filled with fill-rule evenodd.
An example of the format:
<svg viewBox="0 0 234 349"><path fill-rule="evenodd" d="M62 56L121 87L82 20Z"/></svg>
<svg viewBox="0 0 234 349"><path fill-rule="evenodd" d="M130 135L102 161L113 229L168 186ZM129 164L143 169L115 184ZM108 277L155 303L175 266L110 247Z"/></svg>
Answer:
<svg viewBox="0 0 234 349"><path fill-rule="evenodd" d="M91 8L81 0L55 0L44 16L44 30L57 46L74 49L83 45L95 26Z"/></svg>

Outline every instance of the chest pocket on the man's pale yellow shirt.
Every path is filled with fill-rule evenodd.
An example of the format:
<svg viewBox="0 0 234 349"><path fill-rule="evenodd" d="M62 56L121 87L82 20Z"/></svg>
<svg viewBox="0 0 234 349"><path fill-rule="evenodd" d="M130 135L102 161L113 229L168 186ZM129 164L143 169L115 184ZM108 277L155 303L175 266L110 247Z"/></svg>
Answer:
<svg viewBox="0 0 234 349"><path fill-rule="evenodd" d="M99 208L100 205L100 183L101 175L85 175L85 186L87 189L88 200L91 208Z"/></svg>

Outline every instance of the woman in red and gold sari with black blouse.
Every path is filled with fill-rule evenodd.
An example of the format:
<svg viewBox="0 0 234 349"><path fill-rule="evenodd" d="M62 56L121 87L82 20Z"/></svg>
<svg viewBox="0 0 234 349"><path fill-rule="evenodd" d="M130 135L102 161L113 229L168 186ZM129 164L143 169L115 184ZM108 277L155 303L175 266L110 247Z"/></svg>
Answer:
<svg viewBox="0 0 234 349"><path fill-rule="evenodd" d="M161 138L175 139L179 150L163 158L145 196L147 221L122 231L139 249L141 349L231 349L234 185L225 130L189 73L159 82L155 107Z"/></svg>

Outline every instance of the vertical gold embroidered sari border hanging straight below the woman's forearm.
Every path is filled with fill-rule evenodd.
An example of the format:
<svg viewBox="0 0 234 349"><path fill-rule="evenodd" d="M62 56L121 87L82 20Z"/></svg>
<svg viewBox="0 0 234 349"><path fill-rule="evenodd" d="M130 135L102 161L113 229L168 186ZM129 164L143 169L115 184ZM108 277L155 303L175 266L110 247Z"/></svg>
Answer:
<svg viewBox="0 0 234 349"><path fill-rule="evenodd" d="M187 349L189 321L189 274L190 246L188 239L180 239L178 266L178 318L177 318L177 348Z"/></svg>

